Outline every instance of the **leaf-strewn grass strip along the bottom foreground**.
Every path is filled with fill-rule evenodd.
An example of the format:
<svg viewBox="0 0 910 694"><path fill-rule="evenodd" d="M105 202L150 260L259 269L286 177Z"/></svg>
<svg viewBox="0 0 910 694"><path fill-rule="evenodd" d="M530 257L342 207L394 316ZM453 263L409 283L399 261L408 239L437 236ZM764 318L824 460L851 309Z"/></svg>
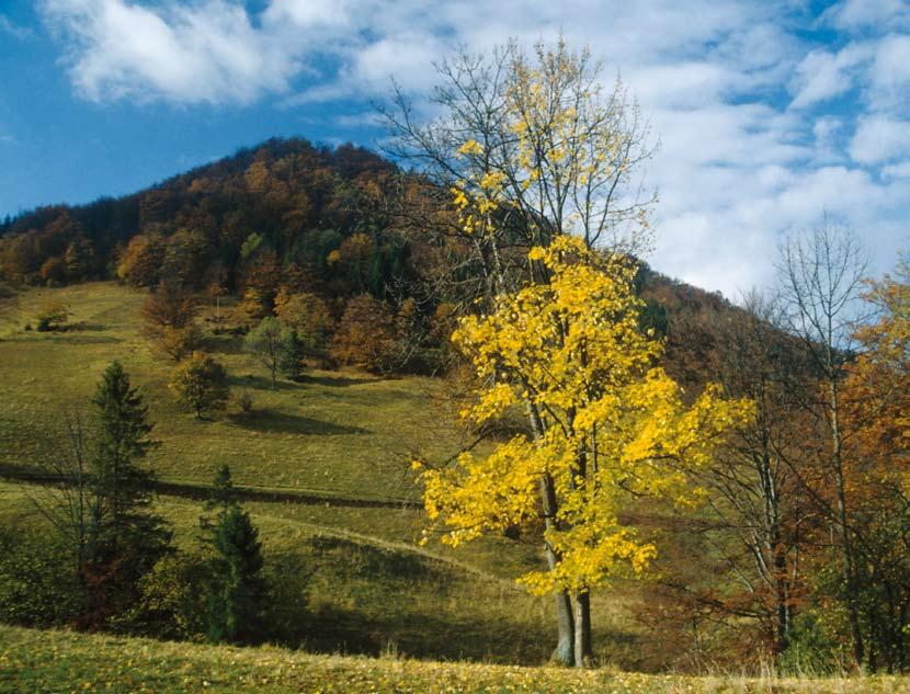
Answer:
<svg viewBox="0 0 910 694"><path fill-rule="evenodd" d="M384 658L316 656L0 626L2 692L320 692L548 694L910 692L900 678L645 675Z"/></svg>

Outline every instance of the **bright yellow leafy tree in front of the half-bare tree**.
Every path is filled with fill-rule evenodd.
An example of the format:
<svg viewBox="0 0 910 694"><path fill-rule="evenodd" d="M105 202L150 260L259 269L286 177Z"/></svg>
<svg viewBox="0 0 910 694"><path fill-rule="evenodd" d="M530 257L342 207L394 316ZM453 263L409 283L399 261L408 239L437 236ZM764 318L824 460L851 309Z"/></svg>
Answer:
<svg viewBox="0 0 910 694"><path fill-rule="evenodd" d="M573 662L582 665L590 591L642 572L656 554L621 520L624 499L693 502L686 470L704 467L751 406L720 399L715 386L683 402L656 365L660 343L639 328L628 257L562 236L528 260L548 282L498 296L488 315L463 318L453 341L487 384L464 417L484 423L524 407L533 433L488 456L463 453L454 467L416 466L429 516L452 545L543 517L548 567L519 580L572 596Z"/></svg>

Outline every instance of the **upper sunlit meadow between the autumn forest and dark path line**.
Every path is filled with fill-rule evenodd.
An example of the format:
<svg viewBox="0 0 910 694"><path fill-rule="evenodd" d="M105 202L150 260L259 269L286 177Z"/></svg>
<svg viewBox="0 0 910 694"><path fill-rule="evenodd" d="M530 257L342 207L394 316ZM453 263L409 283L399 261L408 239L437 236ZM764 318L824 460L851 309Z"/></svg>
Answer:
<svg viewBox="0 0 910 694"><path fill-rule="evenodd" d="M235 481L371 499L417 499L409 470L414 451L444 455L457 432L434 405L429 378L380 379L355 372L309 371L304 382L273 390L264 367L237 337L213 337L232 390L254 401L249 418L236 406L205 421L173 401L173 367L141 337L145 292L91 283L24 293L0 322L0 464L29 466L48 420L84 406L102 371L120 360L139 386L161 446L149 457L161 479L208 482L216 465ZM47 300L61 302L82 330L24 331Z"/></svg>

